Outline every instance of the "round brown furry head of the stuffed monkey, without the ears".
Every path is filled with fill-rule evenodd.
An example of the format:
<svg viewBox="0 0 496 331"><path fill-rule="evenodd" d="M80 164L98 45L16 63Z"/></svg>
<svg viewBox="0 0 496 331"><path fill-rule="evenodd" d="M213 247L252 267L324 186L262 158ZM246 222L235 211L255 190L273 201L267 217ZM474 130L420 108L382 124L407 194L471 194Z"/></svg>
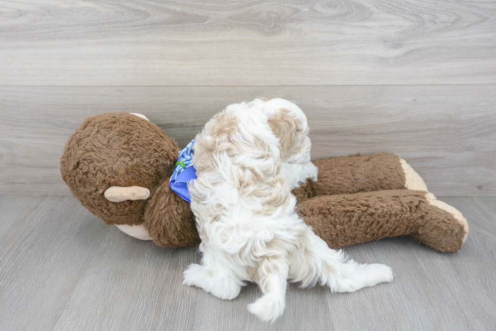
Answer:
<svg viewBox="0 0 496 331"><path fill-rule="evenodd" d="M70 136L60 159L72 194L107 224L141 224L148 200L118 204L105 198L112 186L150 190L173 172L175 141L155 124L128 113L88 117Z"/></svg>

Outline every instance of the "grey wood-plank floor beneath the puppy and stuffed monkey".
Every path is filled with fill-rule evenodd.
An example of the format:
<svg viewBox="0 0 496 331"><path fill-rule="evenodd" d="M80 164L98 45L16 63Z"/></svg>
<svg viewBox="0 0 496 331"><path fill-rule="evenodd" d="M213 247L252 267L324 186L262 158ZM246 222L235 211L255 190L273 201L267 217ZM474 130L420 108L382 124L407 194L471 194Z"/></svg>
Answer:
<svg viewBox="0 0 496 331"><path fill-rule="evenodd" d="M246 305L181 285L194 248L167 249L104 225L70 196L0 195L1 330L492 330L496 198L444 198L470 224L462 250L399 237L345 251L390 265L392 283L351 294L291 285L273 324Z"/></svg>

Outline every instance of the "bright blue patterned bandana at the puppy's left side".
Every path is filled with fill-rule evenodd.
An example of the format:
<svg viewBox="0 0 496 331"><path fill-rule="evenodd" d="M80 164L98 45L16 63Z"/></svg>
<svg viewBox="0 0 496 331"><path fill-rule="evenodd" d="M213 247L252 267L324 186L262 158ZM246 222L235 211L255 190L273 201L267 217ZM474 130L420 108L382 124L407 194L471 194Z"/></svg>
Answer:
<svg viewBox="0 0 496 331"><path fill-rule="evenodd" d="M194 143L195 139L191 140L188 146L179 152L179 157L176 163L174 163L174 171L169 181L172 191L176 192L187 202L191 202L188 183L196 178L196 170L191 162L191 152L193 151Z"/></svg>

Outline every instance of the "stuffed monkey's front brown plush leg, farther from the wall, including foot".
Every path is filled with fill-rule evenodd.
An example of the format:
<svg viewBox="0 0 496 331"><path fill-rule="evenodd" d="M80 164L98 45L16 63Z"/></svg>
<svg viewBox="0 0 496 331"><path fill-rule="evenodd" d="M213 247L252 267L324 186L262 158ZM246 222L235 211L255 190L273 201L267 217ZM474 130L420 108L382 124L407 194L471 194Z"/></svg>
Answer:
<svg viewBox="0 0 496 331"><path fill-rule="evenodd" d="M331 248L411 234L435 250L456 252L468 233L458 210L424 191L319 196L304 201L299 214Z"/></svg>

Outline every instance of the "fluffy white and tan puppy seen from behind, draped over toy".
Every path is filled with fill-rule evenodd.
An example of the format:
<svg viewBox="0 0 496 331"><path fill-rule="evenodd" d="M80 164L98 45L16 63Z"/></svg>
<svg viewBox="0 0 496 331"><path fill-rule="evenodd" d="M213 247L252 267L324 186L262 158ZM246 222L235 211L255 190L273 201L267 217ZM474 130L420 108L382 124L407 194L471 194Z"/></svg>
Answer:
<svg viewBox="0 0 496 331"><path fill-rule="evenodd" d="M256 99L228 106L196 136L190 195L203 256L184 271L183 284L234 299L254 281L264 296L248 308L274 321L287 280L353 292L393 279L386 265L347 261L295 212L293 188L317 180L308 131L295 104Z"/></svg>

